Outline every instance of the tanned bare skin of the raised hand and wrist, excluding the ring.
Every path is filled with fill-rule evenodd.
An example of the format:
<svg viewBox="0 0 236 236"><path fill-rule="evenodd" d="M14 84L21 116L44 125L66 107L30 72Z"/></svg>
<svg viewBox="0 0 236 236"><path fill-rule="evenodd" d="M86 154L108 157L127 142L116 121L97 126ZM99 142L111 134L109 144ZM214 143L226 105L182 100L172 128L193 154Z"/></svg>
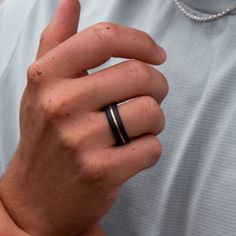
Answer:
<svg viewBox="0 0 236 236"><path fill-rule="evenodd" d="M109 22L76 33L79 12L77 0L61 1L28 69L20 141L0 182L2 231L13 236L104 235L97 222L122 184L161 156L168 84L148 64L162 64L164 50ZM128 60L87 73L111 57ZM118 110L131 142L117 147L102 109L126 100Z"/></svg>

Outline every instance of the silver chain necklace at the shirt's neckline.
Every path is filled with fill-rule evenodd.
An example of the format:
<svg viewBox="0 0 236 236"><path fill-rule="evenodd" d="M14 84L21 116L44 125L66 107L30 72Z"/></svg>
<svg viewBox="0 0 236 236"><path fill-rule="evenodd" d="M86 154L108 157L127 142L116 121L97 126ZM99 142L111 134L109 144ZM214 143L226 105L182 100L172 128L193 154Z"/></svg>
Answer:
<svg viewBox="0 0 236 236"><path fill-rule="evenodd" d="M194 15L192 13L190 13L184 6L183 4L181 4L180 0L174 0L176 6L179 8L179 10L185 15L187 16L189 19L196 21L196 22L211 22L211 21L215 21L218 20L224 16L229 15L231 12L236 10L236 5L235 6L231 6L227 9L225 9L222 12L216 13L214 15L210 15L210 16L197 16Z"/></svg>

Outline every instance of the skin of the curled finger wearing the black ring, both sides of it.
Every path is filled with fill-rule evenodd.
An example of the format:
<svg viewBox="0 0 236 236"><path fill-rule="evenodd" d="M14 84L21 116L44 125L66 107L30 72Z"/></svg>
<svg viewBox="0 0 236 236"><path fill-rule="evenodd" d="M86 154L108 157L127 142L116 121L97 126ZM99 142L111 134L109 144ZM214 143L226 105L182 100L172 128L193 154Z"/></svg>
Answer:
<svg viewBox="0 0 236 236"><path fill-rule="evenodd" d="M120 104L118 111L130 139L149 133L157 135L164 128L164 113L160 105L152 97L142 96L134 98ZM115 145L116 139L109 126L105 112L101 112L99 116L99 124L103 123L104 126L101 126L101 129L99 129L99 134L96 135L99 140L95 143L101 144L102 141L108 147Z"/></svg>

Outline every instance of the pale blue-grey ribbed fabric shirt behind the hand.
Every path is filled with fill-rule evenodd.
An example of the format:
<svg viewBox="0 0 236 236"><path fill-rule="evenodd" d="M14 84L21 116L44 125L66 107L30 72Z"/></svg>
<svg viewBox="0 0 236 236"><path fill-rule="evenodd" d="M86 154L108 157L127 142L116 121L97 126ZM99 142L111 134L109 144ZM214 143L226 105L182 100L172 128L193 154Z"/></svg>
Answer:
<svg viewBox="0 0 236 236"><path fill-rule="evenodd" d="M225 8L226 1L216 1ZM5 127L17 126L25 69L34 58L38 36L56 2L35 3L0 78L2 171L18 140L17 129L7 131ZM185 2L197 13L201 13L199 9L211 12L204 8L203 0L201 6L196 6L197 1L194 6L193 1ZM162 105L166 128L158 136L162 159L123 186L102 220L107 235L235 236L236 15L203 24L183 16L172 0L81 3L81 29L99 21L126 24L150 33L168 53L167 62L159 67L170 86ZM4 24L0 22L1 27ZM1 36L2 40L8 40L7 36ZM15 89L19 92L12 92ZM8 141L3 145L5 137Z"/></svg>

